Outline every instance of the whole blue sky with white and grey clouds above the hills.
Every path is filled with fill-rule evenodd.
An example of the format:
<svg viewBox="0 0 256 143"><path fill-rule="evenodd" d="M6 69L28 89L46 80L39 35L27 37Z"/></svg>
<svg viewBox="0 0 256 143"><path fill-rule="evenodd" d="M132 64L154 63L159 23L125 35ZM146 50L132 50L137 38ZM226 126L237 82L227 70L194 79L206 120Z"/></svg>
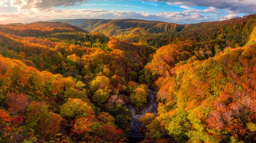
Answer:
<svg viewBox="0 0 256 143"><path fill-rule="evenodd" d="M255 13L256 0L0 0L0 24L80 18L192 24Z"/></svg>

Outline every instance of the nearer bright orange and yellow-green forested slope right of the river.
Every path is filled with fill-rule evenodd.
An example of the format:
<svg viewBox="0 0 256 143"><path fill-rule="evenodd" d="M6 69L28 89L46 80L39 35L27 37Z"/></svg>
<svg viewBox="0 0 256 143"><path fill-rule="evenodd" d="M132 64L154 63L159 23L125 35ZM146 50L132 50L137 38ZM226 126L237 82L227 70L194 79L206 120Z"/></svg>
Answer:
<svg viewBox="0 0 256 143"><path fill-rule="evenodd" d="M176 65L156 85L158 115L145 115L148 139L166 142L254 142L255 49ZM160 126L160 128L159 128Z"/></svg>

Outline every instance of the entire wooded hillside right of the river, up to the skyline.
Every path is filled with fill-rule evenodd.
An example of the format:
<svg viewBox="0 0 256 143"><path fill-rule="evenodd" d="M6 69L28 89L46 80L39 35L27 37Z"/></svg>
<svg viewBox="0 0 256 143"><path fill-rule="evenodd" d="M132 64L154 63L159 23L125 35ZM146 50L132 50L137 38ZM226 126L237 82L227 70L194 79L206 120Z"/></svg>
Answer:
<svg viewBox="0 0 256 143"><path fill-rule="evenodd" d="M159 102L145 142L255 142L254 29L255 15L191 24L156 51L140 76Z"/></svg>

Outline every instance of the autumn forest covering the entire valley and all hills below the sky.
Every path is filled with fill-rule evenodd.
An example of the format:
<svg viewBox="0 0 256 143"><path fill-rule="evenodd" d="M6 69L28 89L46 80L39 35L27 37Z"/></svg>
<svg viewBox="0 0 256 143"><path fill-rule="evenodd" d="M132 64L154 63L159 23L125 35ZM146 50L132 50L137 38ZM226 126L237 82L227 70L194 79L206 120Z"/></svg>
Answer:
<svg viewBox="0 0 256 143"><path fill-rule="evenodd" d="M1 142L130 142L151 90L141 143L256 141L256 15L82 25L0 25Z"/></svg>

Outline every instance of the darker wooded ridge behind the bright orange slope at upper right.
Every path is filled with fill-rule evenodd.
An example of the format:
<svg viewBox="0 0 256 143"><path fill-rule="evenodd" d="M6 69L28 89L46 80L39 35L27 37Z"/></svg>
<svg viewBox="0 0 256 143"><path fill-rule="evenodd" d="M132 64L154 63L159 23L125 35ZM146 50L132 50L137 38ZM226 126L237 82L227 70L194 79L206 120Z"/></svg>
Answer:
<svg viewBox="0 0 256 143"><path fill-rule="evenodd" d="M252 14L225 21L188 24L181 31L169 30L168 32L164 31L158 34L137 32L130 33L129 35L118 35L116 37L125 41L147 44L157 48L168 44L196 43L211 40L225 40L226 45L238 47L245 45L250 38L253 38L251 33L255 28L255 20L256 15Z"/></svg>

